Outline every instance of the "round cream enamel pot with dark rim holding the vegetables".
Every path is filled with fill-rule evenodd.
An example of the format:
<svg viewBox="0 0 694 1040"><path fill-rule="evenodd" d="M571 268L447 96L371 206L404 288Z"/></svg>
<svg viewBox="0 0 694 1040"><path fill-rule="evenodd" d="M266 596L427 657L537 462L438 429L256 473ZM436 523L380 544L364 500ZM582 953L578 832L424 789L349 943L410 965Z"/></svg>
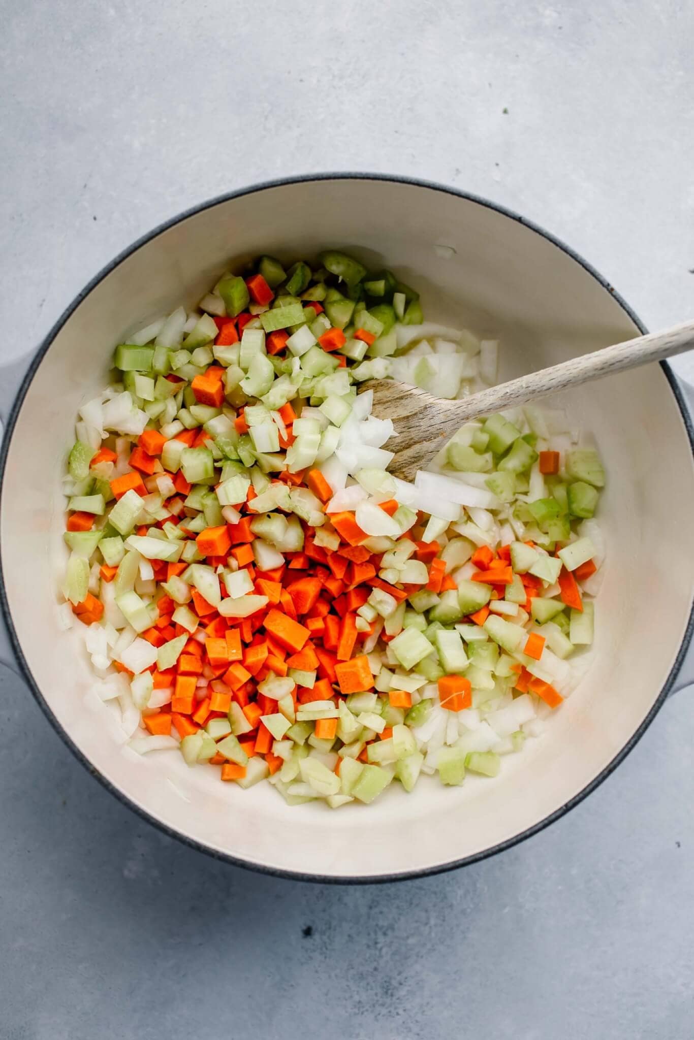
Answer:
<svg viewBox="0 0 694 1040"><path fill-rule="evenodd" d="M177 217L86 287L19 390L5 373L5 396L14 396L1 460L5 659L19 662L80 760L168 833L260 870L379 881L463 865L538 831L621 761L669 692L694 681L693 662L685 661L694 590L692 424L665 364L562 401L596 435L608 471L595 650L546 735L510 756L496 780L461 788L427 781L411 795L393 785L368 808L332 812L317 804L288 808L264 783L249 791L220 783L211 770L188 770L177 752L124 754L102 714L85 707L92 676L81 638L61 632L56 620L66 558L60 478L76 412L104 386L117 342L181 301L197 302L230 261L259 252L311 257L330 245L420 287L428 317L498 334L502 378L643 331L611 286L556 239L434 184L305 178L234 192Z"/></svg>

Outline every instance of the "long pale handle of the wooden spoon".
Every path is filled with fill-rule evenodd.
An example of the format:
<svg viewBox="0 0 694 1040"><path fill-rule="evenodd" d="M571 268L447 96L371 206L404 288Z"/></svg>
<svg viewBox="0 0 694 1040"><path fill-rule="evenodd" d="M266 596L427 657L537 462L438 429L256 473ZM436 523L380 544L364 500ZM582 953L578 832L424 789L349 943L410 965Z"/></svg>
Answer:
<svg viewBox="0 0 694 1040"><path fill-rule="evenodd" d="M615 343L592 354L563 361L560 365L542 368L538 372L521 375L510 383L471 394L462 400L446 401L449 407L441 416L445 428L455 431L468 419L490 415L515 405L524 405L538 397L577 387L582 383L613 375L626 368L637 368L651 361L662 361L675 354L694 348L694 321L685 321L665 332L649 333L628 339L625 343Z"/></svg>

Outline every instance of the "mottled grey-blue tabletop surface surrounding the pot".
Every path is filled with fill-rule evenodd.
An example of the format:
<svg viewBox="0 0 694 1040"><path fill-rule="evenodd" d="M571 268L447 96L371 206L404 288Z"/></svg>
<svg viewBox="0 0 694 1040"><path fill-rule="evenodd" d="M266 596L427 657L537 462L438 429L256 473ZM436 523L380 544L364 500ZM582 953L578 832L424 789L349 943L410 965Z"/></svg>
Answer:
<svg viewBox="0 0 694 1040"><path fill-rule="evenodd" d="M253 181L340 168L518 209L651 328L694 311L684 0L0 11L3 360L157 222ZM694 376L691 361L676 367ZM521 847L437 879L331 888L164 838L2 672L0 1036L690 1037L692 694Z"/></svg>

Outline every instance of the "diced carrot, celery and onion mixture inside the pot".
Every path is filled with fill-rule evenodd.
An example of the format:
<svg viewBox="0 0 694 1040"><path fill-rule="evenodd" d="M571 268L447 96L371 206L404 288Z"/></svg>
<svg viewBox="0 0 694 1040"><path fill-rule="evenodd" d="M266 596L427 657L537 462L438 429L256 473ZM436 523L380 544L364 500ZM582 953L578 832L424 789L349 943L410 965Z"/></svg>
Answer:
<svg viewBox="0 0 694 1040"><path fill-rule="evenodd" d="M408 484L357 396L463 396L496 355L335 251L260 257L115 348L68 460L60 619L131 748L337 808L539 735L593 640L597 451L529 407Z"/></svg>

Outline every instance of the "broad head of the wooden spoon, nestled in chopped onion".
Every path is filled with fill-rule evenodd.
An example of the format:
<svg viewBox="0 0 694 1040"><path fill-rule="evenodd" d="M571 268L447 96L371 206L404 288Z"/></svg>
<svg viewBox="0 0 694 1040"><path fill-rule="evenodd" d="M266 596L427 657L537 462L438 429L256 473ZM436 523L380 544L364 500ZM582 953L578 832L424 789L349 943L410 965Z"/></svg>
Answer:
<svg viewBox="0 0 694 1040"><path fill-rule="evenodd" d="M413 480L451 438L448 411L460 402L432 397L426 390L408 386L397 380L369 380L362 383L360 393L374 391L372 414L379 419L392 419L395 436L384 447L394 451L388 466L393 476ZM462 423L461 423L462 424Z"/></svg>

